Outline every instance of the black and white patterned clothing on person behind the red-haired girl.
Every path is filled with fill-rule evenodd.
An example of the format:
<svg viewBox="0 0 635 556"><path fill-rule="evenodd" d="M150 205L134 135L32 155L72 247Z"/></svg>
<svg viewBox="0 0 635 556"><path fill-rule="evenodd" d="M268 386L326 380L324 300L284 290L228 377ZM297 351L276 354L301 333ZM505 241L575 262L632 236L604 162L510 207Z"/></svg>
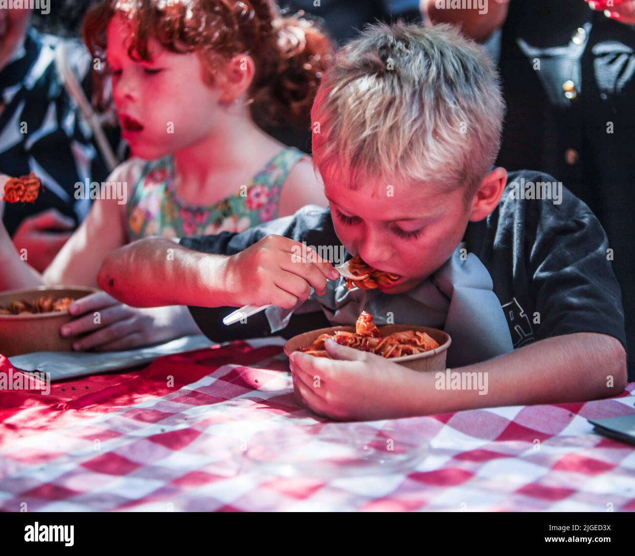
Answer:
<svg viewBox="0 0 635 556"><path fill-rule="evenodd" d="M4 210L3 222L13 234L24 218L56 208L83 220L90 199L76 199L75 184L102 182L108 170L93 133L69 96L55 64L55 47L62 40L39 34L32 27L11 61L0 71L0 173L21 176L33 171L45 192L34 204ZM90 89L91 58L79 41L71 41L70 65L84 89ZM90 98L90 91L87 91ZM117 129L109 133L117 142Z"/></svg>

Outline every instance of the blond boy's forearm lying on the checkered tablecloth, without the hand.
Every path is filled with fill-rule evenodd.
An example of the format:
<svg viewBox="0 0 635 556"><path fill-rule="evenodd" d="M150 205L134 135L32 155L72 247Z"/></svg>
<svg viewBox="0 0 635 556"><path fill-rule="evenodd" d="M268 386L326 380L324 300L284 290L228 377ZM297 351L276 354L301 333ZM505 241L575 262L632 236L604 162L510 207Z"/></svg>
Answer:
<svg viewBox="0 0 635 556"><path fill-rule="evenodd" d="M441 389L451 385L445 376L439 381L437 373L424 373L418 378L417 414L580 402L620 394L627 381L624 347L611 336L595 333L547 338L450 373L473 379L481 389Z"/></svg>

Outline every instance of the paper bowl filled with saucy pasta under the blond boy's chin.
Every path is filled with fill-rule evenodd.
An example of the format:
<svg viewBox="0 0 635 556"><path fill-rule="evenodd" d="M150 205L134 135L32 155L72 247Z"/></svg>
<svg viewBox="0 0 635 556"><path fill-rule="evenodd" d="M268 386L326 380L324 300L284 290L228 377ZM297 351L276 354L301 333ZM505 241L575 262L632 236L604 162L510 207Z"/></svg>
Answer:
<svg viewBox="0 0 635 556"><path fill-rule="evenodd" d="M387 361L413 371L445 371L446 355L452 341L443 330L429 326L375 326L372 315L364 311L355 326L331 326L293 336L284 344L284 353L288 356L293 352L304 352L330 358L324 347L328 338L385 357Z"/></svg>

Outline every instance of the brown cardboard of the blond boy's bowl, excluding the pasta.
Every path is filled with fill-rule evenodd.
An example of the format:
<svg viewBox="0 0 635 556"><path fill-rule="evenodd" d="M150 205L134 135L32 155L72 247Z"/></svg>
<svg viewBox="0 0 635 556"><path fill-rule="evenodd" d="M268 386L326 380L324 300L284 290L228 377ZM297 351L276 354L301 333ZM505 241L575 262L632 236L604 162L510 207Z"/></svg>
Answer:
<svg viewBox="0 0 635 556"><path fill-rule="evenodd" d="M446 356L448 354L448 348L452 343L452 339L448 333L438 328L430 328L429 326L415 326L413 324L386 324L384 326L377 327L384 336L389 336L394 332L401 332L404 330L415 330L419 332L425 332L429 336L432 336L434 340L439 344L438 348L429 350L422 354L416 355L404 355L403 357L391 357L386 361L392 361L408 367L413 371L445 371ZM308 347L321 334L333 334L336 330L344 330L346 332L354 332L354 326L330 326L329 328L320 328L319 330L312 330L311 332L305 332L304 334L298 334L293 336L284 344L284 353L287 357L298 350L300 347ZM302 398L293 380L293 395L298 405L304 406Z"/></svg>

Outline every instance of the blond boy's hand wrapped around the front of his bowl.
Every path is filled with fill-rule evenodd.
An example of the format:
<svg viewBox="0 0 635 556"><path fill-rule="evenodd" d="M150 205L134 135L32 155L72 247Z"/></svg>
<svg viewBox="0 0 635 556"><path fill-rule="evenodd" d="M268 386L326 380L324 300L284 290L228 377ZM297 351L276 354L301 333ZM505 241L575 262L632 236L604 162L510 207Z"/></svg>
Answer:
<svg viewBox="0 0 635 556"><path fill-rule="evenodd" d="M294 389L302 402L330 419L377 420L406 417L417 411L424 376L379 355L324 342L337 359L293 352L289 357ZM418 406L421 407L419 401Z"/></svg>

